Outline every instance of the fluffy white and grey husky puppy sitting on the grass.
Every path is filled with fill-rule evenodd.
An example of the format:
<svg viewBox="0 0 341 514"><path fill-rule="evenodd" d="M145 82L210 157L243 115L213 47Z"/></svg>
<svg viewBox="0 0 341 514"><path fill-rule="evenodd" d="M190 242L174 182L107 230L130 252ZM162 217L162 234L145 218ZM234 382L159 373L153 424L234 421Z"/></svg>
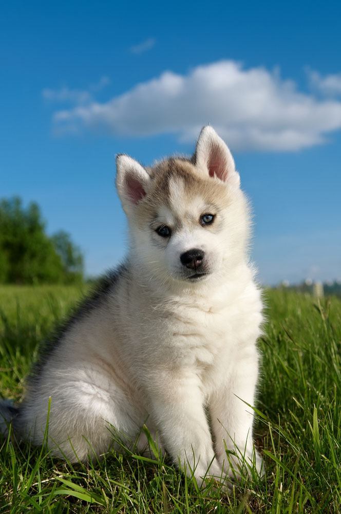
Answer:
<svg viewBox="0 0 341 514"><path fill-rule="evenodd" d="M127 259L66 324L17 412L2 403L3 417L42 444L51 398L48 444L70 461L106 452L112 427L134 440L147 423L199 481L241 460L260 471L250 406L262 303L233 157L205 126L191 159L116 162Z"/></svg>

